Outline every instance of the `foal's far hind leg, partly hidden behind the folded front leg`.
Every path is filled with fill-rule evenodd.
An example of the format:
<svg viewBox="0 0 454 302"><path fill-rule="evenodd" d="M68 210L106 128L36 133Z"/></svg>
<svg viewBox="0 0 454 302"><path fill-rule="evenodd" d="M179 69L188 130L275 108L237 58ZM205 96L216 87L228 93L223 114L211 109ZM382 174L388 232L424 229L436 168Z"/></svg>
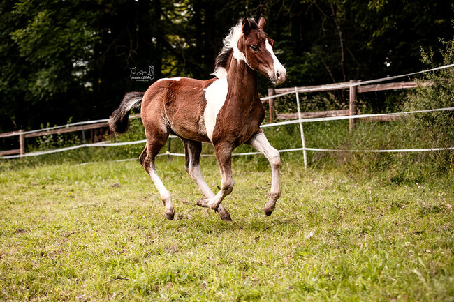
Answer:
<svg viewBox="0 0 454 302"><path fill-rule="evenodd" d="M205 179L203 179L202 171L200 169L200 153L202 151L202 143L191 141L189 139L182 139L182 141L186 156L186 172L188 172L191 179L193 179L193 181L197 184L198 188L206 198L214 198L215 195L205 182ZM219 204L219 207L214 211L219 213L221 220L232 221L230 214L222 204Z"/></svg>

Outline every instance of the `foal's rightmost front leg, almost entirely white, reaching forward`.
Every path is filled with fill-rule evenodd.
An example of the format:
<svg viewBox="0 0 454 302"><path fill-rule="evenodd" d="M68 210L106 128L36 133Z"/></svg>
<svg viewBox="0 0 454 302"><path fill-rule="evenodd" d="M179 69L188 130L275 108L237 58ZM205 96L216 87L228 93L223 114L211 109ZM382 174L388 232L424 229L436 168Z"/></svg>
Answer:
<svg viewBox="0 0 454 302"><path fill-rule="evenodd" d="M258 152L263 153L263 155L268 159L271 165L271 190L270 190L270 200L265 204L265 209L263 211L267 216L270 216L274 207L276 206L277 199L281 196L281 188L279 185L279 173L281 169L281 156L279 151L273 148L271 144L266 139L265 134L262 130L258 132L249 139L247 144L251 145Z"/></svg>

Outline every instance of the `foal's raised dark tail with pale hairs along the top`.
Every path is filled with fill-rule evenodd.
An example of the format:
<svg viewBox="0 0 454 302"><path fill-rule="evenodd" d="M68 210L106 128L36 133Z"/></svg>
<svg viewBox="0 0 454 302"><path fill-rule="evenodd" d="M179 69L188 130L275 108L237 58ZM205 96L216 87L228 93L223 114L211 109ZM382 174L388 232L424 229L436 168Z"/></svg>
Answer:
<svg viewBox="0 0 454 302"><path fill-rule="evenodd" d="M126 93L120 106L110 116L110 132L125 133L128 130L129 110L140 107L144 94L144 92Z"/></svg>

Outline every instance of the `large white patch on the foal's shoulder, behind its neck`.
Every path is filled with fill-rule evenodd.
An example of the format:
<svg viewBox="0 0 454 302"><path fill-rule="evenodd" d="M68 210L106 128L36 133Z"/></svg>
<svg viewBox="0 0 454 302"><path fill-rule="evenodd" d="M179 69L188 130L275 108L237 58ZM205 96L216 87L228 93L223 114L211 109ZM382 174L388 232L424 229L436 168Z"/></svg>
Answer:
<svg viewBox="0 0 454 302"><path fill-rule="evenodd" d="M227 98L227 77L217 79L203 90L205 90L205 100L207 100L205 112L203 112L203 119L205 120L208 138L212 140L217 114L219 114L219 110L221 110Z"/></svg>

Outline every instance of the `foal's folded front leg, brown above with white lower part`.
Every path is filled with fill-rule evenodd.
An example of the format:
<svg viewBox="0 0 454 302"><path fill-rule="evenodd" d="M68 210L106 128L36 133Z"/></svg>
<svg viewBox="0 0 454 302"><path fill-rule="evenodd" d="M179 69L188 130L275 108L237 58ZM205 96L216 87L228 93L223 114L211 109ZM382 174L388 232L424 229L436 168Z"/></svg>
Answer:
<svg viewBox="0 0 454 302"><path fill-rule="evenodd" d="M207 198L204 197L200 199L197 204L199 206L204 206L213 210L218 210L219 204L221 204L222 199L230 194L233 190L233 181L232 177L232 151L233 147L230 143L223 142L214 146L214 152L216 153L217 163L219 165L219 170L221 171L221 190L214 197Z"/></svg>

